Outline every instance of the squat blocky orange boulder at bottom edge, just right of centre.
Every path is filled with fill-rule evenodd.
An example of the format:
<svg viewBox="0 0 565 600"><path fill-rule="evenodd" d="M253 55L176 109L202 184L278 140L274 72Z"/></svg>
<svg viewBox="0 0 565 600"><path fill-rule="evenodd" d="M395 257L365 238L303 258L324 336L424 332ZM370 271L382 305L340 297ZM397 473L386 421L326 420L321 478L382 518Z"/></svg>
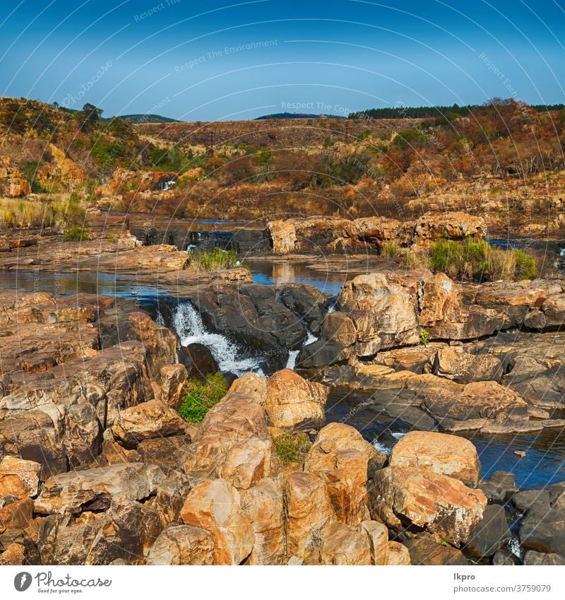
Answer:
<svg viewBox="0 0 565 600"><path fill-rule="evenodd" d="M322 565L371 565L371 548L364 531L332 523L321 531Z"/></svg>

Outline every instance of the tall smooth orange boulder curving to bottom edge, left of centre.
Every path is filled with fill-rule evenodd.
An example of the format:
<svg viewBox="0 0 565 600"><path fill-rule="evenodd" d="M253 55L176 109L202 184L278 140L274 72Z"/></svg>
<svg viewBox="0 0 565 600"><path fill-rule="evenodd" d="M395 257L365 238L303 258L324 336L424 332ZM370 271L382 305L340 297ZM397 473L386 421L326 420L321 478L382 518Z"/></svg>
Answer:
<svg viewBox="0 0 565 600"><path fill-rule="evenodd" d="M226 481L206 481L189 493L180 514L184 524L209 531L214 565L239 565L251 553L254 531L239 492Z"/></svg>

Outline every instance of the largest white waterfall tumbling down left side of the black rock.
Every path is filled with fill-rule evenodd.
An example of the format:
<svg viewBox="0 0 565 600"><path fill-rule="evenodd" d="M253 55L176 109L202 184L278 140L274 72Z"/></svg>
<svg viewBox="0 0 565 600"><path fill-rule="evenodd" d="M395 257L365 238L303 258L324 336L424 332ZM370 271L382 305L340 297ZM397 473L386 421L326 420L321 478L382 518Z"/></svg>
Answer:
<svg viewBox="0 0 565 600"><path fill-rule="evenodd" d="M237 344L221 334L210 334L202 322L200 313L190 302L183 302L177 306L173 327L182 346L188 346L190 343L201 343L206 346L220 370L229 371L238 377L247 371L261 372L258 358L242 357Z"/></svg>

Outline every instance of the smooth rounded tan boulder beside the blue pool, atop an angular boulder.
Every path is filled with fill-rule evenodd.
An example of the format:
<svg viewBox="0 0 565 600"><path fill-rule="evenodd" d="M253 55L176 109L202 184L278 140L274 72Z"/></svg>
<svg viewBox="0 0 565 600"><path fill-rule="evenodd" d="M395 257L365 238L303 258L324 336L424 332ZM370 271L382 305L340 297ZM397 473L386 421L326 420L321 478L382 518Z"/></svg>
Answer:
<svg viewBox="0 0 565 600"><path fill-rule="evenodd" d="M469 440L445 433L410 431L393 448L390 466L431 469L477 487L481 464L477 449Z"/></svg>

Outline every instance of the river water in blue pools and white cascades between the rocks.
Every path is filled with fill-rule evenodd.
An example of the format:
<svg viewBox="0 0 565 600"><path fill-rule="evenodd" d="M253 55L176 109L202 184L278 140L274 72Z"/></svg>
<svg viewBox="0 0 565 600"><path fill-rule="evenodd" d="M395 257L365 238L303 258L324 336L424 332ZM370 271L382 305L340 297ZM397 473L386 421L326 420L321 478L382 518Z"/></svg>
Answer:
<svg viewBox="0 0 565 600"><path fill-rule="evenodd" d="M217 221L201 222L215 228ZM507 240L504 240L505 244ZM561 250L565 259L565 249ZM320 269L319 263L312 261L270 261L252 259L246 261L256 283L305 283L324 293L337 295L343 283L359 271L335 269L328 265ZM128 273L104 273L78 271L76 273L52 273L46 271L0 271L0 289L18 289L25 291L47 291L57 294L77 292L104 294L119 298L135 298L141 307L158 305L160 298L167 293L157 286L136 286L134 278ZM328 312L335 310L335 301ZM157 313L157 322L165 321ZM261 372L257 357L245 355L237 343L222 334L213 334L204 326L198 311L189 303L178 305L174 312L174 330L183 345L202 343L210 348L215 360L223 371L242 375L246 371ZM309 333L303 346L316 341ZM299 350L289 353L287 367L295 369ZM375 411L375 407L364 403L362 398L348 394L340 395L333 390L327 407L328 422L340 421L357 428L369 442L381 452L389 454L398 439L410 430L410 425L398 418ZM512 436L468 435L477 447L484 476L493 471L511 471L516 475L516 483L522 489L537 489L565 480L565 432L557 429L542 433ZM526 456L520 458L516 450L525 450Z"/></svg>

